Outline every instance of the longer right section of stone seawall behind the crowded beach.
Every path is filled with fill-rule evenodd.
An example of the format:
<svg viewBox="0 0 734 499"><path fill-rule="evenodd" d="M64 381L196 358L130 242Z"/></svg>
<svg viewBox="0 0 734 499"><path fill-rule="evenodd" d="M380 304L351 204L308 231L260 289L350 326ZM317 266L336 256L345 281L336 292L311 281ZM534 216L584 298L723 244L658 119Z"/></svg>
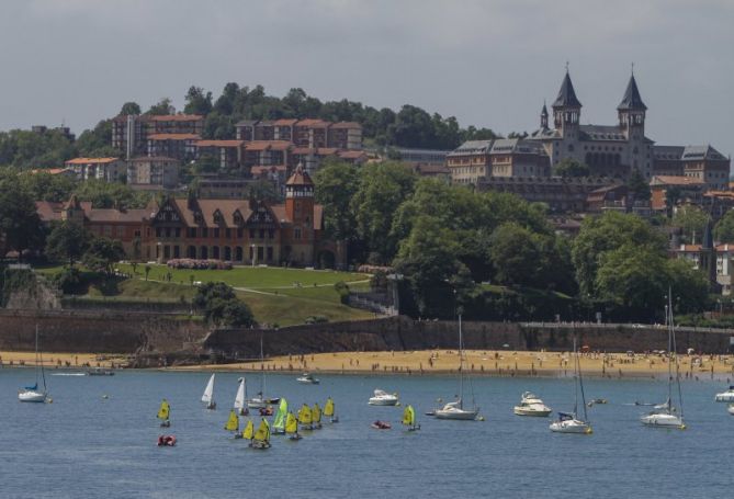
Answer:
<svg viewBox="0 0 734 499"><path fill-rule="evenodd" d="M472 350L569 351L574 336L590 350L623 352L667 350L667 330L654 327L612 325L531 325L464 322L464 348ZM226 356L255 359L260 338L268 355L343 351L456 349L458 327L448 321L414 321L406 317L294 326L281 329L227 329L212 331L204 349ZM685 352L727 353L731 330L681 328L677 349Z"/></svg>

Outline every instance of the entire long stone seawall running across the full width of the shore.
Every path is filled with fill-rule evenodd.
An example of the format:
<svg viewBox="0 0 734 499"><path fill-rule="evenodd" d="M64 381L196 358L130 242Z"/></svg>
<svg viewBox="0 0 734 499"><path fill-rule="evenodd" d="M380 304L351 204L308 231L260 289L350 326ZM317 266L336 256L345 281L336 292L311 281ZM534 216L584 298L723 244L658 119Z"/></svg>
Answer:
<svg viewBox="0 0 734 499"><path fill-rule="evenodd" d="M32 351L35 326L45 352L80 353L217 353L256 359L260 338L268 355L343 351L456 349L458 327L451 321L416 321L407 317L292 326L280 329L218 329L172 316L117 310L0 309L0 350ZM665 328L631 325L555 325L464 322L464 347L473 350L598 351L666 350ZM734 330L679 328L678 351L730 351Z"/></svg>

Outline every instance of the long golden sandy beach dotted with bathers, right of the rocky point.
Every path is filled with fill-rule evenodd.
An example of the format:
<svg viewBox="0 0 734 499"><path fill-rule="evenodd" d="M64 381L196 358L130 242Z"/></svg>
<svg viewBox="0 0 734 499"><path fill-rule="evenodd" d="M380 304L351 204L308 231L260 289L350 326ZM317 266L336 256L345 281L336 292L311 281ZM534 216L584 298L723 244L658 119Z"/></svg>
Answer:
<svg viewBox="0 0 734 499"><path fill-rule="evenodd" d="M477 375L564 376L573 374L573 356L560 352L466 351L466 368ZM680 373L690 378L734 378L734 355L680 355ZM660 377L668 371L660 354L585 353L581 370L588 376ZM456 373L454 350L413 352L341 352L290 355L238 364L172 367L192 371L268 371L312 373L370 373L430 375Z"/></svg>

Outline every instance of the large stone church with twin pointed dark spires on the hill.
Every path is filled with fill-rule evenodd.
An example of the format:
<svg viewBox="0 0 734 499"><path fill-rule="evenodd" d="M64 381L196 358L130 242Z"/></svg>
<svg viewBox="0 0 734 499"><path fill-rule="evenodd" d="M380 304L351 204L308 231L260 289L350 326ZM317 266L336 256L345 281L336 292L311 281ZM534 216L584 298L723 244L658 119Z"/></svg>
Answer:
<svg viewBox="0 0 734 499"><path fill-rule="evenodd" d="M614 125L581 125L581 103L567 68L551 109L552 116L543 104L540 128L528 139L543 145L552 165L571 158L586 163L592 175L626 178L637 170L646 179L652 178L654 141L645 136L647 106L640 95L634 73L617 106Z"/></svg>

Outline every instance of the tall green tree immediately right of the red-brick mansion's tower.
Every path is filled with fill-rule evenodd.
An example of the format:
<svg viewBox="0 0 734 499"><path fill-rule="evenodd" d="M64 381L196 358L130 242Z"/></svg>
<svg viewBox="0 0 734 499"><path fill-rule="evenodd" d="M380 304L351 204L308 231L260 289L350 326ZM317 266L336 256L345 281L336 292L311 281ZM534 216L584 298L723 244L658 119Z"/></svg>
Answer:
<svg viewBox="0 0 734 499"><path fill-rule="evenodd" d="M324 206L324 225L337 240L355 237L350 203L359 188L359 169L345 161L327 159L314 175L316 202Z"/></svg>

